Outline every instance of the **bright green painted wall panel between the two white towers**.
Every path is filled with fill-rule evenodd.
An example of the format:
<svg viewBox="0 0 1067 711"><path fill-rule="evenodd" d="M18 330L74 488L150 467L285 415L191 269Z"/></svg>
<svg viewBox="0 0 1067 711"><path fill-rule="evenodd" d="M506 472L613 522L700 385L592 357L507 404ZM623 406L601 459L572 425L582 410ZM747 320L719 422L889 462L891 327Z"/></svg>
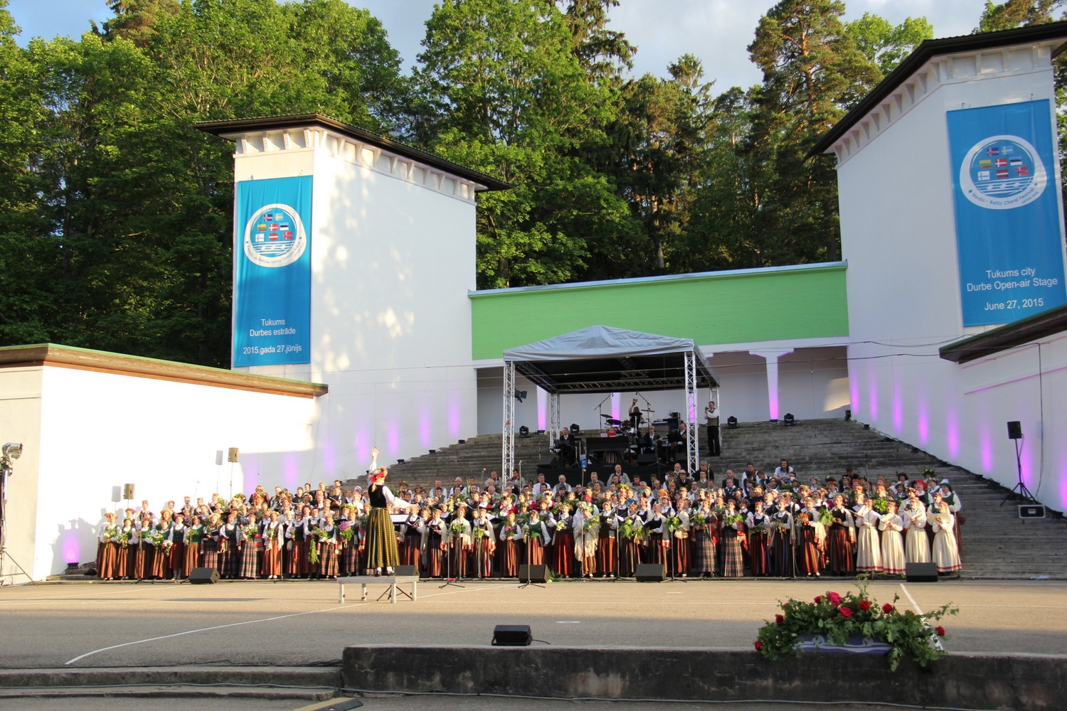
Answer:
<svg viewBox="0 0 1067 711"><path fill-rule="evenodd" d="M848 335L845 264L471 293L472 354L603 324L700 345Z"/></svg>

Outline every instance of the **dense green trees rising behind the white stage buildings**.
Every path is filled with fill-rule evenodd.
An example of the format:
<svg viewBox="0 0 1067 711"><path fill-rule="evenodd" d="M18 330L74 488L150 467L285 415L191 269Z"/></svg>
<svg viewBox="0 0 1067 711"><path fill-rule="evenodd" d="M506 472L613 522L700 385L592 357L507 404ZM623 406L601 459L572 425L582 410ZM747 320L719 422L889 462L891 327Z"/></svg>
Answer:
<svg viewBox="0 0 1067 711"><path fill-rule="evenodd" d="M0 0L0 343L228 366L230 148L201 120L319 112L511 182L482 194L479 288L838 258L833 166L808 151L919 43L841 0L780 0L719 87L682 53L631 74L622 0L441 0L410 75L345 0L101 0L35 38ZM1067 0L987 3L978 29Z"/></svg>

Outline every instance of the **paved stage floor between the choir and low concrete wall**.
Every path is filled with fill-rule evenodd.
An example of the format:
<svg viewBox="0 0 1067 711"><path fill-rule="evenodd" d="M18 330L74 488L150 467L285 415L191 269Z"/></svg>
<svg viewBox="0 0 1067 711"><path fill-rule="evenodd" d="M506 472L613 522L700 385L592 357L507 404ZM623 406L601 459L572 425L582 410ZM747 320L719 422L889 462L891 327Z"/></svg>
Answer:
<svg viewBox="0 0 1067 711"><path fill-rule="evenodd" d="M394 605L359 602L357 586L348 588L356 601L338 604L324 581L7 586L0 668L329 664L350 644L488 644L507 623L530 625L539 644L748 649L779 599L845 588L827 579L424 583L417 602ZM871 594L923 611L958 605L944 623L950 651L1067 656L1065 582L877 582Z"/></svg>

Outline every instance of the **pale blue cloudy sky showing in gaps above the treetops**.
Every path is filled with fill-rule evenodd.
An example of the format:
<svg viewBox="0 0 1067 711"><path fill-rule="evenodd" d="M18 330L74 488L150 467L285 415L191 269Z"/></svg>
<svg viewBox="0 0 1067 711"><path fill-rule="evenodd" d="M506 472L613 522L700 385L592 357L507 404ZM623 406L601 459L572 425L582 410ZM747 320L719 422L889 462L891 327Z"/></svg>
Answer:
<svg viewBox="0 0 1067 711"><path fill-rule="evenodd" d="M370 10L385 26L389 41L411 67L419 51L424 22L434 0L349 0ZM634 72L666 74L669 63L685 52L699 56L717 91L760 81L745 47L752 41L760 16L773 0L622 0L611 11L611 27L637 45ZM925 16L935 36L970 33L978 22L985 0L846 0L846 19L871 12L893 23ZM7 10L22 28L21 44L30 37L80 36L90 20L111 16L105 0L10 0Z"/></svg>

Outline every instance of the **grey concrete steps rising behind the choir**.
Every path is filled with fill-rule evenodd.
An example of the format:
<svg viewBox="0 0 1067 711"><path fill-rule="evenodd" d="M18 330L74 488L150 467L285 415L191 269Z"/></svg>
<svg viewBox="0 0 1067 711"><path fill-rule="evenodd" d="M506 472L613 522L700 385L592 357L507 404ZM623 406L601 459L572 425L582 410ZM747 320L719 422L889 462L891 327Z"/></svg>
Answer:
<svg viewBox="0 0 1067 711"><path fill-rule="evenodd" d="M703 437L703 427L701 427ZM523 476L532 479L538 458L547 453L548 438L531 435L515 438L515 462L523 463ZM707 458L702 442L702 458ZM953 467L917 448L865 430L859 422L807 420L795 426L780 423L745 422L736 430L722 427L722 455L712 457L716 480L730 468L739 472L747 462L758 469L774 470L785 457L801 479L829 474L841 476L845 467L872 481L886 476L896 481L896 472L913 479L925 468L938 479L949 479L962 501L964 578L1067 580L1067 520L1049 510L1046 519L1020 519L1020 501L1001 501L1007 489L959 467ZM394 483L432 485L440 479L450 485L456 476L474 476L479 484L489 471L500 467L500 435L479 435L463 445L453 445L389 468ZM482 468L485 473L482 473ZM500 472L501 479L504 472Z"/></svg>

